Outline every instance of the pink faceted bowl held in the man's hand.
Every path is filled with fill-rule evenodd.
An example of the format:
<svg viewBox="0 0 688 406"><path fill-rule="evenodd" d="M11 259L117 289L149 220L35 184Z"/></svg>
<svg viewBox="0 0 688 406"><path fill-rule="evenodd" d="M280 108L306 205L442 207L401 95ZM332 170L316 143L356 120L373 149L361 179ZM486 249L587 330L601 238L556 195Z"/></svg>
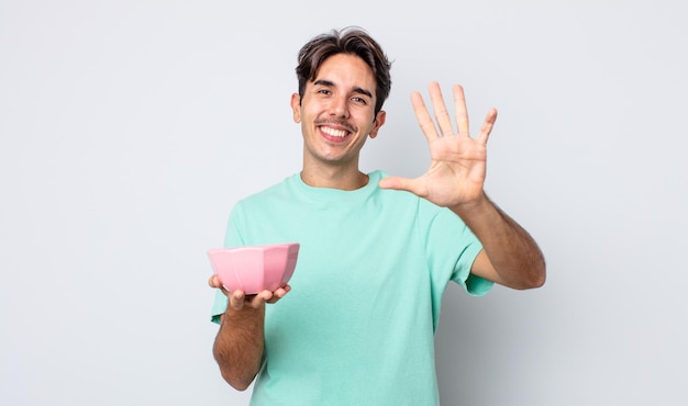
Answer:
<svg viewBox="0 0 688 406"><path fill-rule="evenodd" d="M275 291L287 284L298 255L298 243L208 250L212 269L224 289L242 290L246 294Z"/></svg>

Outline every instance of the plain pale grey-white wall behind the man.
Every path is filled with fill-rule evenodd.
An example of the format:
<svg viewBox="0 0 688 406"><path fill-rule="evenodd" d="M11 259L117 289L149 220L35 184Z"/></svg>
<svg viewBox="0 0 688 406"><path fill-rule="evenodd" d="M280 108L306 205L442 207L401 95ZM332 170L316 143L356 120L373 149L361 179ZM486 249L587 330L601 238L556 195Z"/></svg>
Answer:
<svg viewBox="0 0 688 406"><path fill-rule="evenodd" d="M300 169L297 52L352 24L393 59L363 168L421 174L409 94L463 83L476 131L500 112L486 189L548 263L541 290L447 290L443 404L688 403L683 2L235 4L0 2L0 404L247 403L206 250Z"/></svg>

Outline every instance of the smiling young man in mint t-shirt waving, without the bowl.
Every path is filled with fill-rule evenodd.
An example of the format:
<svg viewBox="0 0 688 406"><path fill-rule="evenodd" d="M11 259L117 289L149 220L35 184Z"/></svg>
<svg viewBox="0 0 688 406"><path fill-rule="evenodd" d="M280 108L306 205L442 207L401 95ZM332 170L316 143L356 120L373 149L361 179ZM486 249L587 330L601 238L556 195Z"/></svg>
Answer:
<svg viewBox="0 0 688 406"><path fill-rule="evenodd" d="M536 244L482 190L497 112L470 137L460 87L457 132L437 83L439 132L412 95L431 151L425 174L359 171L360 149L385 124L389 68L360 30L306 44L291 98L302 171L232 211L225 246L301 244L290 285L275 292L245 295L209 281L219 291L214 357L237 390L258 376L252 405L436 405L434 331L446 284L482 295L492 283L544 283Z"/></svg>

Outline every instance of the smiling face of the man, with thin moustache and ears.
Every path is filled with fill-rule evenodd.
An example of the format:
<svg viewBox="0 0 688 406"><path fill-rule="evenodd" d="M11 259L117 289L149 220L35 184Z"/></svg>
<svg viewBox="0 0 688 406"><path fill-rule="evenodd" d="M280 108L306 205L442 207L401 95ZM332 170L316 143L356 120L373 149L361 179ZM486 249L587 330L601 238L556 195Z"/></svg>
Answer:
<svg viewBox="0 0 688 406"><path fill-rule="evenodd" d="M306 165L355 166L360 148L385 123L375 116L376 81L357 56L337 54L322 63L303 97L293 94L293 121L301 123Z"/></svg>

